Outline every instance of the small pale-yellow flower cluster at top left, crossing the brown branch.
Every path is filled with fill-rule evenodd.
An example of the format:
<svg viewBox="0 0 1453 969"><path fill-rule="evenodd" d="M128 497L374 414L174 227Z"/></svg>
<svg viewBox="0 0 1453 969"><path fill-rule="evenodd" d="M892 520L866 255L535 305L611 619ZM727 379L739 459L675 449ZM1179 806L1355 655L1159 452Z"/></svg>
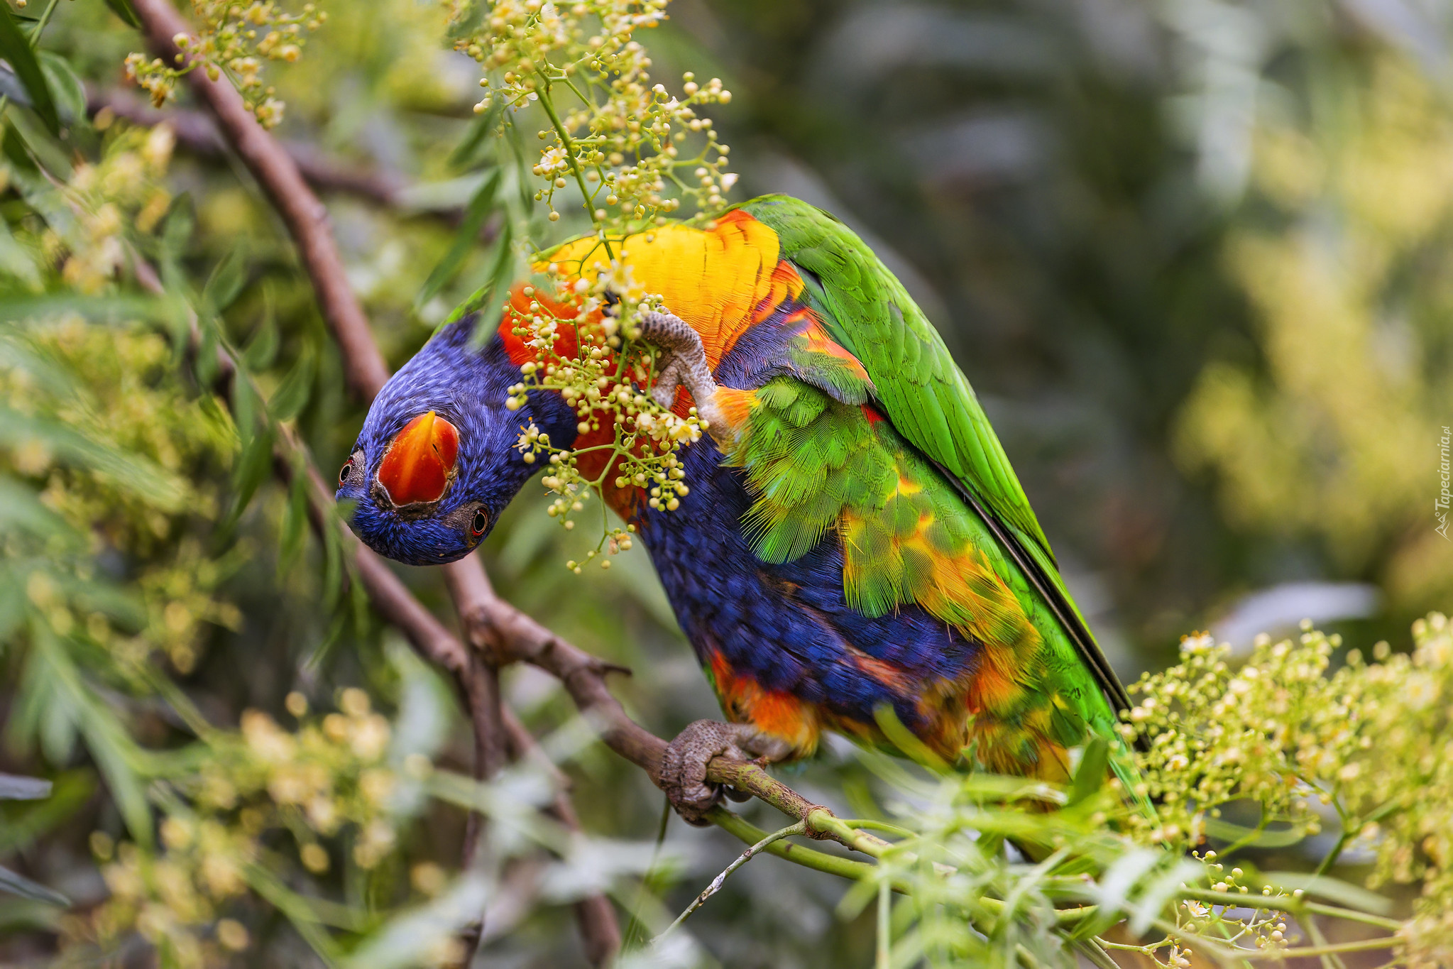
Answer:
<svg viewBox="0 0 1453 969"><path fill-rule="evenodd" d="M167 64L145 54L126 57L126 77L151 94L160 108L176 90L177 78L202 68L211 80L227 74L241 92L247 110L257 116L263 128L282 121L283 102L263 81L267 61L292 64L302 54L307 32L317 31L328 15L312 3L299 13L289 13L275 0L192 0L192 13L201 26L195 35L177 33L173 41L190 54L186 67ZM185 55L177 57L177 64Z"/></svg>

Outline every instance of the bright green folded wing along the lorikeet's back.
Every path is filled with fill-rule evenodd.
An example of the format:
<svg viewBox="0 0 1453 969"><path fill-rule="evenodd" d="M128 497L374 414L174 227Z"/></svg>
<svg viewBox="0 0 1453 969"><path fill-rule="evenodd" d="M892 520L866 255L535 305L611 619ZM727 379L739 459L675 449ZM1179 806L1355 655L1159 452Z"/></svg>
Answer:
<svg viewBox="0 0 1453 969"><path fill-rule="evenodd" d="M939 331L873 251L838 219L785 195L740 206L777 234L806 301L856 356L894 427L939 465L1037 587L1113 709L1129 696L1059 575L1029 498Z"/></svg>

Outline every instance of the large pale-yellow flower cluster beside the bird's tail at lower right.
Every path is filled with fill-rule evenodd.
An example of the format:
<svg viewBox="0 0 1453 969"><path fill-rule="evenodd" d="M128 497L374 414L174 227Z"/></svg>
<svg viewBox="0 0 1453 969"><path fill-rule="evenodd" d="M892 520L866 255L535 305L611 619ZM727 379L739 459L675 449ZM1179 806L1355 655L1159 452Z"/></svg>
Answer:
<svg viewBox="0 0 1453 969"><path fill-rule="evenodd" d="M1415 963L1443 965L1453 952L1453 626L1431 613L1412 628L1411 655L1379 642L1376 662L1353 649L1335 671L1338 636L1302 628L1296 639L1258 636L1239 668L1225 645L1187 636L1180 664L1132 687L1144 699L1122 729L1149 741L1138 757L1158 821L1130 825L1178 848L1229 841L1229 853L1271 831L1316 834L1331 818L1338 837L1321 869L1360 847L1373 857L1370 888L1420 883L1405 937ZM1234 802L1260 812L1254 827L1222 819ZM1239 891L1226 885L1216 891Z"/></svg>

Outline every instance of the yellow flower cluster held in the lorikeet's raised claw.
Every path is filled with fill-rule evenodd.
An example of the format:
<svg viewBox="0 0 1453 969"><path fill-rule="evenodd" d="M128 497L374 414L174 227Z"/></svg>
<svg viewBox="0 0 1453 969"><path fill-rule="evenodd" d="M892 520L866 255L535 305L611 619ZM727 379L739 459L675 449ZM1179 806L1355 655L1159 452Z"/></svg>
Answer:
<svg viewBox="0 0 1453 969"><path fill-rule="evenodd" d="M554 445L535 424L522 427L516 443L527 463L548 456L542 484L556 495L549 514L574 529L571 516L584 510L593 490L623 492L626 501L644 492L648 507L676 511L689 494L680 449L700 440L706 424L695 407L677 414L647 389L657 356L638 340L639 320L661 309L660 298L642 292L619 263L594 282L568 282L558 264L548 272L556 280L552 295L523 286L510 307L511 331L533 359L522 365L506 407L519 410L530 391L551 391L575 410L578 437L571 447ZM632 532L604 527L586 559L629 549ZM602 567L610 567L609 556ZM570 561L567 568L578 572L581 564Z"/></svg>

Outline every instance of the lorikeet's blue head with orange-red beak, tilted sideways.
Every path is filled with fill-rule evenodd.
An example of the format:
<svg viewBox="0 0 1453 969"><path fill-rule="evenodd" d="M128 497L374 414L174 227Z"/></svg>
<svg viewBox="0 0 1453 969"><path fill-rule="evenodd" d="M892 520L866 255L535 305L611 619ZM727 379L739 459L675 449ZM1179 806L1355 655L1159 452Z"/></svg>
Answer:
<svg viewBox="0 0 1453 969"><path fill-rule="evenodd" d="M490 533L538 465L514 443L533 421L570 446L574 414L555 394L506 408L519 381L498 336L472 349L477 317L449 324L373 400L339 471L339 501L353 501L353 532L379 555L410 565L464 558Z"/></svg>

